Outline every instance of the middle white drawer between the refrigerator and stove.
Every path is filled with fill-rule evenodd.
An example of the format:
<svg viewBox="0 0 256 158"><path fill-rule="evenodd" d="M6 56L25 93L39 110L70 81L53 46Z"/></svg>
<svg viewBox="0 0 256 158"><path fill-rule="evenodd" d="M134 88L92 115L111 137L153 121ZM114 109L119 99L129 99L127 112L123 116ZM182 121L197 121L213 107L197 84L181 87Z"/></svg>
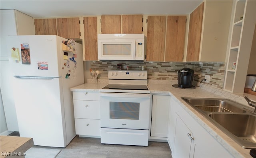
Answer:
<svg viewBox="0 0 256 158"><path fill-rule="evenodd" d="M100 119L100 101L74 100L75 118Z"/></svg>

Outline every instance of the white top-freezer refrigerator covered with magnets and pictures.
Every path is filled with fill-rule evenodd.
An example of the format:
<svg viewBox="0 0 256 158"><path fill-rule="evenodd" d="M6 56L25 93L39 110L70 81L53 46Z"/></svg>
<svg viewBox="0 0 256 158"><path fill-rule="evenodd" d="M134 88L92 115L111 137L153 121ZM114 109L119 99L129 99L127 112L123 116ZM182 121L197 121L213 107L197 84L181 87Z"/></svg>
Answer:
<svg viewBox="0 0 256 158"><path fill-rule="evenodd" d="M8 36L20 137L65 147L75 137L71 87L84 83L82 45L62 49L56 35Z"/></svg>

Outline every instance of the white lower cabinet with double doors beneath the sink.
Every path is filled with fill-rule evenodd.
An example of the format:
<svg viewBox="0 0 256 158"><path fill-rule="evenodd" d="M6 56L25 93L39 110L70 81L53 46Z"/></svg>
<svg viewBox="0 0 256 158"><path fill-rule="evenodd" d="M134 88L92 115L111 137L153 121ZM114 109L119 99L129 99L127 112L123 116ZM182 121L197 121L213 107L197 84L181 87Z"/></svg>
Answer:
<svg viewBox="0 0 256 158"><path fill-rule="evenodd" d="M168 143L173 158L233 157L216 139L171 99Z"/></svg>

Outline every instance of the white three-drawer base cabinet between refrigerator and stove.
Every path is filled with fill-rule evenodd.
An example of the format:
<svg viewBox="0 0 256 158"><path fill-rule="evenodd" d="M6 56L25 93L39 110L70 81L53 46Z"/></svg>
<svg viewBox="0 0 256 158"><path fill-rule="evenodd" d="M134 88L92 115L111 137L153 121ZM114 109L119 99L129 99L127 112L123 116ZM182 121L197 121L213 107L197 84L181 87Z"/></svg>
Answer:
<svg viewBox="0 0 256 158"><path fill-rule="evenodd" d="M73 92L76 134L100 137L100 93Z"/></svg>

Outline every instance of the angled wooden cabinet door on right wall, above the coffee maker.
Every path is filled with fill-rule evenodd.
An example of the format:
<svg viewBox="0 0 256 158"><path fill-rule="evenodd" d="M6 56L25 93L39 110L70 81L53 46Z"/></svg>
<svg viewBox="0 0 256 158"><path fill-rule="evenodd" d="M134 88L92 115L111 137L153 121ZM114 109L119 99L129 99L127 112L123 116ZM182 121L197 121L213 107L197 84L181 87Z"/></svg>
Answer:
<svg viewBox="0 0 256 158"><path fill-rule="evenodd" d="M186 61L199 60L203 14L204 2L190 14Z"/></svg>

